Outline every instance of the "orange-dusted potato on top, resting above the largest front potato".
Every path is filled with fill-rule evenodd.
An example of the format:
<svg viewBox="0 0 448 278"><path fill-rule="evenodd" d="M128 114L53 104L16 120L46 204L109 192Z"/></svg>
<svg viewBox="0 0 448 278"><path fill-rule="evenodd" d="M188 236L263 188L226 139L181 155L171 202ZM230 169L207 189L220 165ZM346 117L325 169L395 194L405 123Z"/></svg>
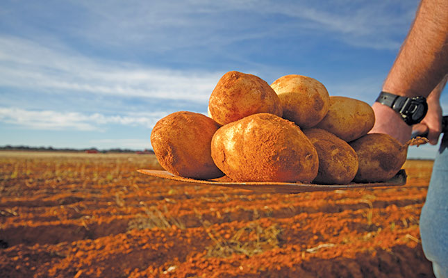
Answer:
<svg viewBox="0 0 448 278"><path fill-rule="evenodd" d="M256 113L283 114L279 97L266 81L235 71L219 79L208 108L213 120L222 125Z"/></svg>

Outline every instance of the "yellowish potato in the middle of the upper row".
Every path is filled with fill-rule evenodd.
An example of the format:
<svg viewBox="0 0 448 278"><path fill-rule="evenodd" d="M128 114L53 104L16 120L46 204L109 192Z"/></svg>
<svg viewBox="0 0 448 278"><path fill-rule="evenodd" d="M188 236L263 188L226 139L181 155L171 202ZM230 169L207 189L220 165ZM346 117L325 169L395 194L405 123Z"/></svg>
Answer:
<svg viewBox="0 0 448 278"><path fill-rule="evenodd" d="M316 79L290 74L274 81L271 87L279 95L283 118L302 129L315 126L329 111L329 93Z"/></svg>

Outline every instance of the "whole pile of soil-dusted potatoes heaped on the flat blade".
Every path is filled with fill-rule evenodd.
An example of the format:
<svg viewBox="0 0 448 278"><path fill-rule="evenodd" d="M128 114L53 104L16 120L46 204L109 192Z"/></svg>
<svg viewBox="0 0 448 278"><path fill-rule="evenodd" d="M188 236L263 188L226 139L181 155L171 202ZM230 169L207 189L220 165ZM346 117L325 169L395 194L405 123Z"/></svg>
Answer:
<svg viewBox="0 0 448 278"><path fill-rule="evenodd" d="M347 184L387 181L406 161L407 145L368 133L369 104L329 96L307 76L269 85L227 72L208 115L181 111L157 122L151 145L165 170L192 179Z"/></svg>

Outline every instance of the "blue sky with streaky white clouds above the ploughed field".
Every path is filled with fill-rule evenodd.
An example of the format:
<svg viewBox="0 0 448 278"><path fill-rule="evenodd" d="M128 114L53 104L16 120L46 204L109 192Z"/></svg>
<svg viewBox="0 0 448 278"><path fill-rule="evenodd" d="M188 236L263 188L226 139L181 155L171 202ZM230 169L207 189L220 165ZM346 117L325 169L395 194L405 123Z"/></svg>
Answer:
<svg viewBox="0 0 448 278"><path fill-rule="evenodd" d="M302 74L330 95L372 104L417 5L3 0L0 145L151 148L157 120L206 114L231 70L267 83ZM409 156L435 152L413 147Z"/></svg>

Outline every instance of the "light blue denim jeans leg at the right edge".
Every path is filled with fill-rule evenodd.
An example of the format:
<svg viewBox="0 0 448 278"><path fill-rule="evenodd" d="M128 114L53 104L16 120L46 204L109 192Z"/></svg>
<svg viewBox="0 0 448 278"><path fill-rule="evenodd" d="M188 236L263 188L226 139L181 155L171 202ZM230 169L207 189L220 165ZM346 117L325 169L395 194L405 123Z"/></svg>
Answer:
<svg viewBox="0 0 448 278"><path fill-rule="evenodd" d="M435 157L426 202L420 215L423 251L435 277L448 278L448 134Z"/></svg>

